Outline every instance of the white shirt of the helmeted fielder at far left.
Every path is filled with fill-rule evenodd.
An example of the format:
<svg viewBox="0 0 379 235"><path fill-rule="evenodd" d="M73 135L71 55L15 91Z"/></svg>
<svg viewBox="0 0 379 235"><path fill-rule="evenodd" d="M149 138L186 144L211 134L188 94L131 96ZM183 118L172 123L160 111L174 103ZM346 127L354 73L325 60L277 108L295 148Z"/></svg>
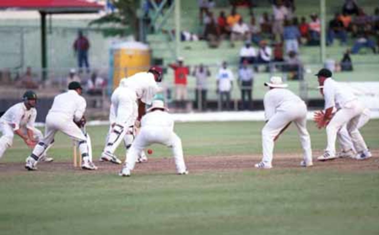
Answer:
<svg viewBox="0 0 379 235"><path fill-rule="evenodd" d="M10 107L3 116L0 117L0 122L8 123L13 130L18 130L20 127L31 129L34 128L36 117L36 108L30 108L30 110L27 110L25 104L20 102Z"/></svg>

